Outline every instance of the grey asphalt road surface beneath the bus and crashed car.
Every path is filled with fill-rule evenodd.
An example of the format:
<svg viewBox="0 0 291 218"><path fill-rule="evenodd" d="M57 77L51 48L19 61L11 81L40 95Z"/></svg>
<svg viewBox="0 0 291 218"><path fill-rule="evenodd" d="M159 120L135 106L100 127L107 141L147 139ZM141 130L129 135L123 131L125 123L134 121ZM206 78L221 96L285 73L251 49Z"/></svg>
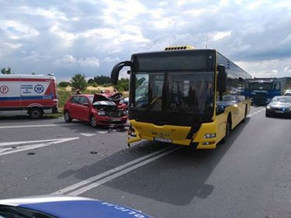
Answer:
<svg viewBox="0 0 291 218"><path fill-rule="evenodd" d="M156 218L291 218L291 119L252 107L215 150L62 118L0 118L0 199L80 195Z"/></svg>

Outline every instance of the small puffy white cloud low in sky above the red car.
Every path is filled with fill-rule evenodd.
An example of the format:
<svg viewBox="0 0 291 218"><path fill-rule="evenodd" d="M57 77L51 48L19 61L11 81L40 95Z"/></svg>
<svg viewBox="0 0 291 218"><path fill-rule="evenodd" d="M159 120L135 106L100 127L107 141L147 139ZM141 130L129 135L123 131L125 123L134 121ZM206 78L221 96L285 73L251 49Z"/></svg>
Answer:
<svg viewBox="0 0 291 218"><path fill-rule="evenodd" d="M100 63L96 57L86 57L77 59L73 55L65 55L63 58L56 60L53 62L55 65L60 66L85 66L85 67L99 67Z"/></svg>

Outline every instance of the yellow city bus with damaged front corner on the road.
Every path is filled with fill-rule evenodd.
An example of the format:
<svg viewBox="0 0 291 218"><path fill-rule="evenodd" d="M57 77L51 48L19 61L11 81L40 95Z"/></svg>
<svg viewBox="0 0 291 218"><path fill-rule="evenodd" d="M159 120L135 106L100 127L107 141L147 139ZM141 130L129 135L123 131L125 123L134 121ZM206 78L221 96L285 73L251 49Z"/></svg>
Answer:
<svg viewBox="0 0 291 218"><path fill-rule="evenodd" d="M214 149L250 111L251 100L239 90L251 76L215 49L180 46L132 54L130 61L114 65L113 84L125 66L130 67L128 145L153 140Z"/></svg>

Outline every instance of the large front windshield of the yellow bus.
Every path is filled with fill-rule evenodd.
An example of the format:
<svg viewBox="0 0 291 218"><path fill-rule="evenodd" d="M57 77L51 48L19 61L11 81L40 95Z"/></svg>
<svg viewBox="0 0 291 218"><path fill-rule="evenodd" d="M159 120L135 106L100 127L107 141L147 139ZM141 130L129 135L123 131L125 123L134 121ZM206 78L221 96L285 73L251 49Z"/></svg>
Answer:
<svg viewBox="0 0 291 218"><path fill-rule="evenodd" d="M139 73L131 109L212 114L213 72Z"/></svg>

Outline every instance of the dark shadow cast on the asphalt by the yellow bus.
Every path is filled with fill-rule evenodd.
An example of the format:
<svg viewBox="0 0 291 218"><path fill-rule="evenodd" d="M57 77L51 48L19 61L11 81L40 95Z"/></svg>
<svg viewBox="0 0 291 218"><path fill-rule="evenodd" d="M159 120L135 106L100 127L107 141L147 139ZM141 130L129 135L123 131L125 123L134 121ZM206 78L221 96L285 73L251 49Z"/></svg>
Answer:
<svg viewBox="0 0 291 218"><path fill-rule="evenodd" d="M215 150L191 150L189 147L181 147L178 151L130 171L103 186L175 205L187 205L195 197L207 198L215 188L206 183L207 179L249 120L248 118L245 123L238 125L228 141L219 144ZM84 180L166 146L161 143L141 142L95 164L76 171L65 171L58 178L75 176Z"/></svg>

